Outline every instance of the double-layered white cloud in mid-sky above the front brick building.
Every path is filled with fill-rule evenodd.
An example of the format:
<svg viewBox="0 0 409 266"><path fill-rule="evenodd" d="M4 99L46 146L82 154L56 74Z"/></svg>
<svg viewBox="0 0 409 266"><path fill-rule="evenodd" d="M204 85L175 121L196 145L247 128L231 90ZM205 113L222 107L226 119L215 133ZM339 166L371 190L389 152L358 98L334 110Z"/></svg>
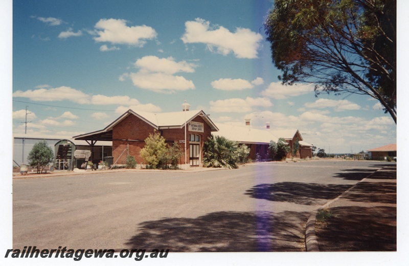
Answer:
<svg viewBox="0 0 409 266"><path fill-rule="evenodd" d="M133 85L160 93L173 93L195 88L193 81L173 74L177 72L192 73L197 66L196 64L186 61L176 62L172 57L145 56L138 59L135 66L140 68L139 72L125 73L119 79L122 81L129 77Z"/></svg>

